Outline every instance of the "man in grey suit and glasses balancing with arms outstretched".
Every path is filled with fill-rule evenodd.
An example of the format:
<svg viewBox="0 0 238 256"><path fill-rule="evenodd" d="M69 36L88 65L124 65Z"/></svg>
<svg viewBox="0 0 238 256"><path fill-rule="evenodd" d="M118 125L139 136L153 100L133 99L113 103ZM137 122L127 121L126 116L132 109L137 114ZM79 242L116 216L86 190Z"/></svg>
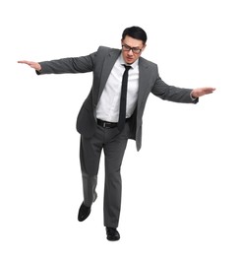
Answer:
<svg viewBox="0 0 238 256"><path fill-rule="evenodd" d="M215 90L166 85L159 77L157 65L141 57L146 42L147 33L139 27L131 27L122 33L121 50L100 46L82 57L39 63L19 61L35 69L38 75L93 72L89 96L77 119L84 188L78 220L83 222L89 217L96 200L97 172L103 150L104 225L107 239L113 241L120 239L117 230L121 208L120 167L128 139L136 140L137 150L141 149L142 119L149 93L174 102L197 103L200 96Z"/></svg>

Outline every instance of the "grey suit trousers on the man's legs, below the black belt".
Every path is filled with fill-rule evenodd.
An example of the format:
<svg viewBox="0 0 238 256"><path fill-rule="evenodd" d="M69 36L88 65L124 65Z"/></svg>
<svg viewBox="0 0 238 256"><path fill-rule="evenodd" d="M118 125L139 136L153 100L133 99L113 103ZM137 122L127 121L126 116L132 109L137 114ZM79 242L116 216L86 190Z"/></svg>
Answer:
<svg viewBox="0 0 238 256"><path fill-rule="evenodd" d="M104 225L117 227L121 210L121 164L129 137L129 124L120 132L117 127L97 125L91 138L81 136L80 160L83 178L84 203L90 207L95 201L97 173L101 152L104 153Z"/></svg>

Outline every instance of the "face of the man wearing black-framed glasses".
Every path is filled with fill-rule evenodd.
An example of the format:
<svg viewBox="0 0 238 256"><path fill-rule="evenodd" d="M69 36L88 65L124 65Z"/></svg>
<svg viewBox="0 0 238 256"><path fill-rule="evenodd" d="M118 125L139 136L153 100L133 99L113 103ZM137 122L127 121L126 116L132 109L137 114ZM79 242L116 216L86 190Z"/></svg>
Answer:
<svg viewBox="0 0 238 256"><path fill-rule="evenodd" d="M129 35L126 35L122 40L122 56L127 64L134 63L142 54L146 45L142 40L135 39Z"/></svg>

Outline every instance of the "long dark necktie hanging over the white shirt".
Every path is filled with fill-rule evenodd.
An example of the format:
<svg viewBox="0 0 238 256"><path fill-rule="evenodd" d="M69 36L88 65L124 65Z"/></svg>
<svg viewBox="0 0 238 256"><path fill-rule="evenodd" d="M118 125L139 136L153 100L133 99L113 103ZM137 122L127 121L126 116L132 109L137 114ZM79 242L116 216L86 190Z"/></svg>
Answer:
<svg viewBox="0 0 238 256"><path fill-rule="evenodd" d="M123 65L125 71L122 77L122 90L121 90L121 100L120 100L120 112L118 120L118 129L122 131L126 122L126 107L127 107L127 82L128 82L128 71L131 66Z"/></svg>

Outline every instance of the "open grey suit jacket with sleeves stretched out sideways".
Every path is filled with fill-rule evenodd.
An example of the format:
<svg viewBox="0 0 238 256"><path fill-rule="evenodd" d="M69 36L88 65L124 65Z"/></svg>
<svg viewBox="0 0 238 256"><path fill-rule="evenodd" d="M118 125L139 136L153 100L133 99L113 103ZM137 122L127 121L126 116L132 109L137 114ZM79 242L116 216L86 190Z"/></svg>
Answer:
<svg viewBox="0 0 238 256"><path fill-rule="evenodd" d="M77 130L83 136L91 137L96 129L95 108L105 87L106 81L121 50L99 46L97 51L82 57L63 58L40 62L40 74L63 74L92 72L93 80L89 96L84 101L77 118ZM165 84L158 74L157 65L139 58L139 93L137 107L129 120L129 139L136 140L137 150L142 146L143 113L149 93L175 102L197 103L190 96L191 89L183 89Z"/></svg>

